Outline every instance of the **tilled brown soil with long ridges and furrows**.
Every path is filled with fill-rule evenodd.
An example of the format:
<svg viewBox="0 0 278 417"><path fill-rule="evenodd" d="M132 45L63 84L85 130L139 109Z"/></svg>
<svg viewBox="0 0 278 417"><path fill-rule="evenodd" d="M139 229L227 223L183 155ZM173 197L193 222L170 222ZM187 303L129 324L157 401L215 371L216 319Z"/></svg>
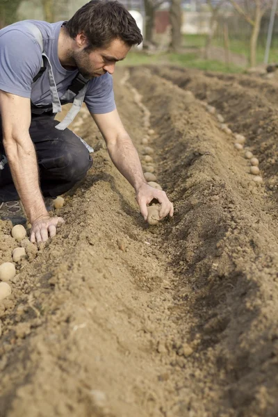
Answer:
<svg viewBox="0 0 278 417"><path fill-rule="evenodd" d="M277 87L249 80L117 71L124 125L142 160L142 138L154 148L174 202L154 227L90 116L76 118L94 165L0 303L0 416L277 416ZM17 245L1 222L1 259Z"/></svg>

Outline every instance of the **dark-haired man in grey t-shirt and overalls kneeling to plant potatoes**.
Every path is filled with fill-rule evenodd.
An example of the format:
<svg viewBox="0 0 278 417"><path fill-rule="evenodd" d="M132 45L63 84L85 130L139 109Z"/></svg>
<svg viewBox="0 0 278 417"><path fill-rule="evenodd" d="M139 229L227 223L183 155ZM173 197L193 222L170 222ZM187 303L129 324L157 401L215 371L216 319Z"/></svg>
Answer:
<svg viewBox="0 0 278 417"><path fill-rule="evenodd" d="M0 206L2 218L7 211L11 218L21 200L31 242L55 236L63 222L50 217L43 197L70 190L92 166L88 149L66 128L72 115L62 124L54 120L68 101L76 113L84 99L145 220L152 199L161 203L161 218L173 215L165 193L145 181L113 96L115 63L140 42L135 20L117 1L90 1L68 22L24 21L0 31Z"/></svg>

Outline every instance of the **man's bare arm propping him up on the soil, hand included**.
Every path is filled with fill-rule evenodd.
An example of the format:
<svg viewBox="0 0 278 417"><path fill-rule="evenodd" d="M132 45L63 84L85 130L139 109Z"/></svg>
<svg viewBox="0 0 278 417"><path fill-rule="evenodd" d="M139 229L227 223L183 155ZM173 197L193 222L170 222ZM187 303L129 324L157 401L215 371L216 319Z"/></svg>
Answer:
<svg viewBox="0 0 278 417"><path fill-rule="evenodd" d="M29 135L31 124L30 99L0 90L0 113L3 131L3 146L10 166L10 172L17 188L31 229L31 240L47 240L49 214L40 191L38 163L35 147ZM41 222L43 220L43 223ZM55 222L54 222L55 223ZM39 228L38 228L39 224ZM54 224L49 229L50 236L56 234Z"/></svg>

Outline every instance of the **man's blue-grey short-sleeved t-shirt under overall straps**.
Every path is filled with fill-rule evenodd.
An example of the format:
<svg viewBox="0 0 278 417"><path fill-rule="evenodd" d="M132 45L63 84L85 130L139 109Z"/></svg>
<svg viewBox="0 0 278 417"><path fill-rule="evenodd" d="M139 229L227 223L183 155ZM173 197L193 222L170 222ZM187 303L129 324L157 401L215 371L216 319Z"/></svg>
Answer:
<svg viewBox="0 0 278 417"><path fill-rule="evenodd" d="M58 58L58 36L63 22L48 23L40 20L28 20L28 22L38 26L42 33L44 52L52 65L58 95L62 97L78 73L77 70L65 70ZM1 29L0 90L31 98L34 104L51 104L47 71L44 71L40 79L33 83L33 78L40 71L41 64L40 45L22 22ZM90 80L84 101L91 113L113 111L115 100L111 74L106 72Z"/></svg>

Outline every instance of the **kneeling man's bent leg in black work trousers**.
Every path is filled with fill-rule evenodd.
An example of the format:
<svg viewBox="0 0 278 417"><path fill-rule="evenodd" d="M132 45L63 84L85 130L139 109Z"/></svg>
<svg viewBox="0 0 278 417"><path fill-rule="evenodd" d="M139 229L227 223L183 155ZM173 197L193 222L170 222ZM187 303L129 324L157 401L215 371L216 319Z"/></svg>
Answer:
<svg viewBox="0 0 278 417"><path fill-rule="evenodd" d="M33 117L29 133L38 158L40 187L44 197L56 197L70 190L92 166L88 149L70 129L55 129L53 117ZM0 155L5 155L0 138ZM19 199L8 163L0 170L0 203Z"/></svg>

